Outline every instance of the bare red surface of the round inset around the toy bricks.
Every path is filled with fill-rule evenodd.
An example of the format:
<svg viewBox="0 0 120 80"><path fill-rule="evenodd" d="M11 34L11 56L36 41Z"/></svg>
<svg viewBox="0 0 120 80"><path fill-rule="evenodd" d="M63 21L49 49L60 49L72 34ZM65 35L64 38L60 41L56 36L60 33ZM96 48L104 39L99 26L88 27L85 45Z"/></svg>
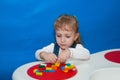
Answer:
<svg viewBox="0 0 120 80"><path fill-rule="evenodd" d="M50 65L49 63L46 63L47 66ZM44 68L39 68L40 64L34 65L32 67L30 67L27 71L27 74L29 76L31 76L32 78L35 78L37 80L65 80L68 78L73 77L76 73L77 73L77 69L76 70L70 70L69 72L63 72L60 67L56 70L56 72L43 72L42 76L38 76L36 75L33 70L34 69L38 69L40 71L42 71L42 69L44 70ZM63 66L65 64L60 64L60 66Z"/></svg>

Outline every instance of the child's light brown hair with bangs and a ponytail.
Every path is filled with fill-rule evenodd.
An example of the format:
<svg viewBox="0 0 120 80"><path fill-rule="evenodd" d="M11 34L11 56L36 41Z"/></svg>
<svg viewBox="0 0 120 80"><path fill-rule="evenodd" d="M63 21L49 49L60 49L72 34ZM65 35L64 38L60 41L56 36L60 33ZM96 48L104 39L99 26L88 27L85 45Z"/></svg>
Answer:
<svg viewBox="0 0 120 80"><path fill-rule="evenodd" d="M67 26L69 26L69 28ZM58 17L58 19L54 23L55 30L66 30L70 31L73 30L75 33L79 33L79 27L78 27L78 21L75 16L72 15L61 15ZM76 39L75 43L82 43L80 34L79 37Z"/></svg>

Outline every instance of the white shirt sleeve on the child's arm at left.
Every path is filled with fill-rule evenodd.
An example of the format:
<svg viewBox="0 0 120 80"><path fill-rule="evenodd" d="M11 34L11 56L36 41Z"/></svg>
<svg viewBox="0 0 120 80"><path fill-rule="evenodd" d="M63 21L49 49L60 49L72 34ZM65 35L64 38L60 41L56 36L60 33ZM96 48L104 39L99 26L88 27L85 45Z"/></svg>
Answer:
<svg viewBox="0 0 120 80"><path fill-rule="evenodd" d="M54 49L54 43L51 43L48 46L43 47L42 49L38 49L35 52L36 59L37 60L42 60L39 56L41 54L41 52L45 51L45 52L48 52L48 53L53 53L53 49Z"/></svg>

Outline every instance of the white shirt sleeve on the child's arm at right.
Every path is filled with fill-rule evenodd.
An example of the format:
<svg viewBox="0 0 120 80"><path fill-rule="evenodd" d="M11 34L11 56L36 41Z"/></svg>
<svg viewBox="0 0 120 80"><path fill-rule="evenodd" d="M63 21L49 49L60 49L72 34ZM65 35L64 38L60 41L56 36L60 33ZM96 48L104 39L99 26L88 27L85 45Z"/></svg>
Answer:
<svg viewBox="0 0 120 80"><path fill-rule="evenodd" d="M87 60L90 58L90 52L84 48L81 44L77 44L75 48L69 48L71 52L71 58Z"/></svg>

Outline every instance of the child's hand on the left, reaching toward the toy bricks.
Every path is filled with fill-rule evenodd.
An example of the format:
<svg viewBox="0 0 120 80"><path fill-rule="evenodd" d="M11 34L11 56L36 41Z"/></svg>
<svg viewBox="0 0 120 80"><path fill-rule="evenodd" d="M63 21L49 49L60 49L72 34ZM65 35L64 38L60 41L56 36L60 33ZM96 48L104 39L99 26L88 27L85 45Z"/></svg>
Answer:
<svg viewBox="0 0 120 80"><path fill-rule="evenodd" d="M50 63L55 63L57 61L57 56L53 53L44 52L44 53L41 53L41 57L45 61L50 62Z"/></svg>

